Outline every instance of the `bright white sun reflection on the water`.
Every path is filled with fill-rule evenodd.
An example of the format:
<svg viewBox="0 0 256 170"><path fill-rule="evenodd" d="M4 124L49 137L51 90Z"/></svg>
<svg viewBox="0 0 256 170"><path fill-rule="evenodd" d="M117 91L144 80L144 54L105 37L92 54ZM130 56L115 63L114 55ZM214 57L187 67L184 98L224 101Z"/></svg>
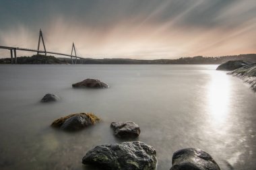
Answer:
<svg viewBox="0 0 256 170"><path fill-rule="evenodd" d="M222 126L229 113L230 81L223 72L211 73L212 81L208 89L208 113L213 126Z"/></svg>

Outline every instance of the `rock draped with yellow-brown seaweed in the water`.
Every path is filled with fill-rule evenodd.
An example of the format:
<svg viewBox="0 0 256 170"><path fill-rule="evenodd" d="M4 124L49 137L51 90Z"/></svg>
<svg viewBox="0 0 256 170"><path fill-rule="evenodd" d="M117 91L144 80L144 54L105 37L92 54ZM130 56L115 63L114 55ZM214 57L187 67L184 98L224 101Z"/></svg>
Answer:
<svg viewBox="0 0 256 170"><path fill-rule="evenodd" d="M65 116L63 118L59 118L55 120L51 126L61 128L62 130L81 130L86 126L90 126L99 122L100 119L94 114L71 114L69 116Z"/></svg>

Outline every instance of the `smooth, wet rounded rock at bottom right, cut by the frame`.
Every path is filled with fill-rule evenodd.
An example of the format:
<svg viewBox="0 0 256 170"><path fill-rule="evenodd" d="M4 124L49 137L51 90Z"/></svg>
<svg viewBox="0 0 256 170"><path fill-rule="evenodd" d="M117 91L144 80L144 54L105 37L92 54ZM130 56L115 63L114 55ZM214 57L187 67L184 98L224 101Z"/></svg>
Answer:
<svg viewBox="0 0 256 170"><path fill-rule="evenodd" d="M197 148L184 148L172 155L170 170L220 170L211 155Z"/></svg>

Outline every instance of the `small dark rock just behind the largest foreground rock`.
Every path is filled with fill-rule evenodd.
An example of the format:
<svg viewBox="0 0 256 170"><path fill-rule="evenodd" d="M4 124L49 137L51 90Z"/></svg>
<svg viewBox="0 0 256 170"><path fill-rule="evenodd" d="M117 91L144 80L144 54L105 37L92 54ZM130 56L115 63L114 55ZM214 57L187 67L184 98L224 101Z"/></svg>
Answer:
<svg viewBox="0 0 256 170"><path fill-rule="evenodd" d="M134 122L113 122L110 127L119 138L136 138L140 134L139 126Z"/></svg>

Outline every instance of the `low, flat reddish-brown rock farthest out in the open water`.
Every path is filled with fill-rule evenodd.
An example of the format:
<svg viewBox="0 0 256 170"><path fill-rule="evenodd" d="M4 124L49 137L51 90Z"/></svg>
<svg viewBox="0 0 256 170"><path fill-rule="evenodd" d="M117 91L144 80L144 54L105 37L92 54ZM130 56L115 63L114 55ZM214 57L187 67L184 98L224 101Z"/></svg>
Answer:
<svg viewBox="0 0 256 170"><path fill-rule="evenodd" d="M85 79L84 81L73 84L72 87L88 87L94 89L103 89L108 88L108 85L97 79Z"/></svg>

